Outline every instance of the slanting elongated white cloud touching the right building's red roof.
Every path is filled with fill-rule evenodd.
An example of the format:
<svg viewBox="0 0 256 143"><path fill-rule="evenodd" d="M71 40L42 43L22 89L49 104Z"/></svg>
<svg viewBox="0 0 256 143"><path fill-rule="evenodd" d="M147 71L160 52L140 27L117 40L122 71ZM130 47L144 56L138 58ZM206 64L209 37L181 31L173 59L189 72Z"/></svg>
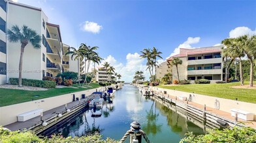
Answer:
<svg viewBox="0 0 256 143"><path fill-rule="evenodd" d="M183 43L183 44L180 44L178 47L176 47L174 49L174 51L170 54L168 58L174 56L174 55L177 55L180 53L180 48L187 48L187 49L193 49L193 47L191 46L191 44L197 44L198 42L200 42L200 37L189 37L187 38L187 40Z"/></svg>

